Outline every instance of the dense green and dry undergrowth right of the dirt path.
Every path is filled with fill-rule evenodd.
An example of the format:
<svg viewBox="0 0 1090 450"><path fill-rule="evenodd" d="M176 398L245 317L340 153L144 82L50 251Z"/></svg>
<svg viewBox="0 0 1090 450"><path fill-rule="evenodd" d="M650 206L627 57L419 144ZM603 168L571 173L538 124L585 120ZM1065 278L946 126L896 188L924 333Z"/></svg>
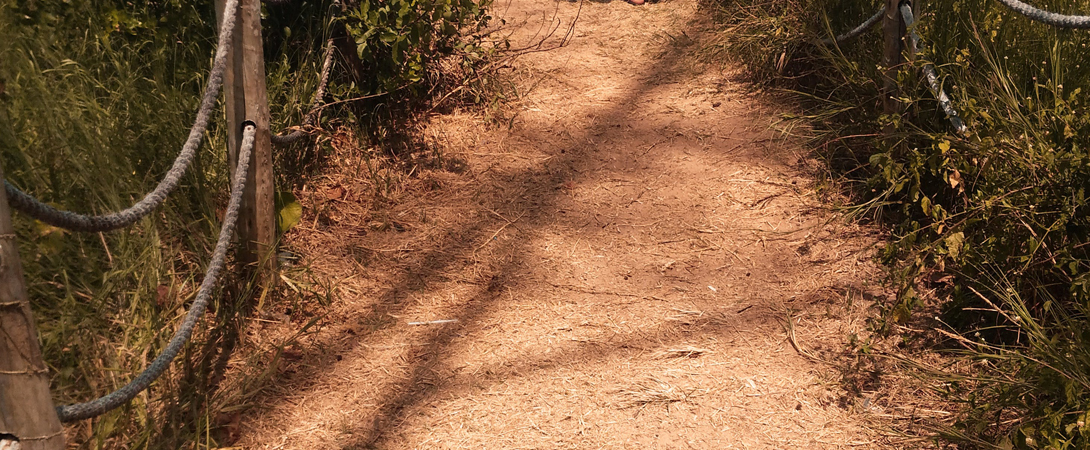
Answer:
<svg viewBox="0 0 1090 450"><path fill-rule="evenodd" d="M1086 4L1034 1L1068 14ZM882 259L899 287L877 330L941 301L937 327L974 360L945 384L965 408L944 426L969 448L1087 448L1090 428L1090 34L1029 21L994 0L925 2L925 47L896 72L903 114L882 113L881 28L823 46L877 5L719 0L712 58L800 102L792 118L853 217L891 229ZM919 75L932 62L969 134L955 134ZM1082 65L1088 65L1082 69ZM948 350L948 349L947 349Z"/></svg>

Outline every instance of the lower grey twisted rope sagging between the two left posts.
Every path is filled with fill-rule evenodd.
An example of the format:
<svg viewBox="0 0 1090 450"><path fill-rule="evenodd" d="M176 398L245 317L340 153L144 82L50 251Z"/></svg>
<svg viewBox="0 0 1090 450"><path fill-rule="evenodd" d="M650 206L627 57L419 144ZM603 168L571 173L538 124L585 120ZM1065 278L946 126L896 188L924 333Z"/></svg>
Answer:
<svg viewBox="0 0 1090 450"><path fill-rule="evenodd" d="M86 403L57 406L57 415L60 416L61 422L90 418L128 403L147 389L148 386L152 386L152 382L170 367L170 363L178 356L178 353L185 345L185 342L190 340L190 337L193 336L193 328L208 308L211 291L216 288L216 282L219 281L219 273L223 270L223 264L227 259L227 248L230 246L231 238L234 235L234 223L239 219L239 205L242 203L242 191L246 185L246 172L250 171L250 154L254 147L254 131L253 125L246 125L242 132L242 148L239 150L239 165L234 170L234 181L231 183L231 200L227 204L223 224L219 229L219 240L216 241L216 248L211 253L211 262L208 263L205 278L201 281L197 296L193 301L193 305L190 306L190 312L182 319L182 325L178 328L178 331L174 331L174 336L170 338L170 342L167 343L167 348L162 353L144 372L137 375L136 378L133 378L132 381L129 381L128 385L121 387L121 389Z"/></svg>

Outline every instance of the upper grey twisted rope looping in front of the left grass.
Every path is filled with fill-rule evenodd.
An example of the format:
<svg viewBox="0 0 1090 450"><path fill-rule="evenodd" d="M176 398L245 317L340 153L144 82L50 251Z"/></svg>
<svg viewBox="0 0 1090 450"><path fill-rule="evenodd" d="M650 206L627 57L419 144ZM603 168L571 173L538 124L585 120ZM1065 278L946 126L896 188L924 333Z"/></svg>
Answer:
<svg viewBox="0 0 1090 450"><path fill-rule="evenodd" d="M162 178L159 185L155 186L150 193L144 196L135 205L128 209L111 212L102 216L88 216L53 208L40 200L32 197L11 183L4 181L4 191L8 194L8 202L11 206L27 216L72 231L111 231L129 227L137 220L152 214L162 202L167 199L185 174L190 163L196 157L201 147L201 138L208 127L208 120L211 118L213 109L216 107L216 98L223 86L223 72L227 69L227 53L231 49L231 36L234 33L234 22L238 16L238 0L228 0L223 11L223 23L219 29L219 42L216 47L216 57L213 62L211 72L208 75L208 84L205 87L204 96L201 99L201 108L197 110L196 120L190 129L190 135L182 145L182 150L174 159L170 171Z"/></svg>

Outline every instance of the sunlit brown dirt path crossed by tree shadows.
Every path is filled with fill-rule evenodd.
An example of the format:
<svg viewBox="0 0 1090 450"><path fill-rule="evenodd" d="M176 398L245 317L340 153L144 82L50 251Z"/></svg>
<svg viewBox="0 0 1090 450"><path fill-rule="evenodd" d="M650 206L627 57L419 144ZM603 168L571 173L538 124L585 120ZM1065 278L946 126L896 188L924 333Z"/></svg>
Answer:
<svg viewBox="0 0 1090 450"><path fill-rule="evenodd" d="M694 62L704 12L499 7L529 17L516 45L543 16L560 34L580 19L569 46L517 62L510 129L436 117L441 161L367 174L346 150L302 190L289 243L335 280L332 313L284 352L238 445L894 447L783 325L819 357L862 333L874 238L827 223L774 110ZM428 320L456 321L411 324Z"/></svg>

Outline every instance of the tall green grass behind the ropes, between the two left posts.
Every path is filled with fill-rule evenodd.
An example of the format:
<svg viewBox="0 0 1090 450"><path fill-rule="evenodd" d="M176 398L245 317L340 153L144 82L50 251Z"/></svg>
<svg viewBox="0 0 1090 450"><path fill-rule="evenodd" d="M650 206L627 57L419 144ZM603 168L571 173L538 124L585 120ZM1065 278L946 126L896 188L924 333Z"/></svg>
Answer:
<svg viewBox="0 0 1090 450"><path fill-rule="evenodd" d="M143 196L192 124L211 23L209 10L171 3L4 1L0 155L8 179L84 212L121 209ZM180 191L131 229L69 233L15 216L58 402L86 401L128 382L170 338L207 264L226 193L223 138L214 127L207 141ZM77 424L70 439L95 448L162 443L164 411L156 405L173 396L172 384Z"/></svg>

